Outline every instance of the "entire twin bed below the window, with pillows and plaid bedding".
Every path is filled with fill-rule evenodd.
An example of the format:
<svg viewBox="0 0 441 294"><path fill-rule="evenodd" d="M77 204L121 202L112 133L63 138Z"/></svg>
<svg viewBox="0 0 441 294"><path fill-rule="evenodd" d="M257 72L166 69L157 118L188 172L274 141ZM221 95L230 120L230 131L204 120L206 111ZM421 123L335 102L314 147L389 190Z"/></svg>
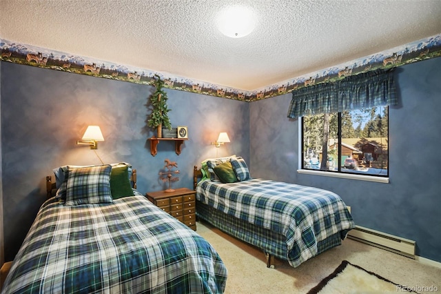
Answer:
<svg viewBox="0 0 441 294"><path fill-rule="evenodd" d="M355 227L342 199L328 190L254 179L244 159L194 166L196 217L293 267L341 244Z"/></svg>

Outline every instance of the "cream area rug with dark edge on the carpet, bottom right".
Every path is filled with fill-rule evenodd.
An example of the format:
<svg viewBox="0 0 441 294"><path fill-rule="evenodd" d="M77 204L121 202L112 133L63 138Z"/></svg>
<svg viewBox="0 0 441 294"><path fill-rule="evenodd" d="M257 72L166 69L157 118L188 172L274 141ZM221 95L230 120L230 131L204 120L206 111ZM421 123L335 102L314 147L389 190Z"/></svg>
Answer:
<svg viewBox="0 0 441 294"><path fill-rule="evenodd" d="M344 260L338 268L312 288L308 294L411 292L407 286L391 282L376 273Z"/></svg>

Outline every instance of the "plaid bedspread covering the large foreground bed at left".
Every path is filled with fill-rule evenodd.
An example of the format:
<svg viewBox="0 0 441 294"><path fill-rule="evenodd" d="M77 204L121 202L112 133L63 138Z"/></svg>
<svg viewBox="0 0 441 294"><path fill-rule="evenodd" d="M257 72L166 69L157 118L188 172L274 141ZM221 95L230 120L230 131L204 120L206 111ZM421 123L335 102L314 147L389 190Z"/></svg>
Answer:
<svg viewBox="0 0 441 294"><path fill-rule="evenodd" d="M223 293L227 270L196 232L143 196L41 209L2 293Z"/></svg>

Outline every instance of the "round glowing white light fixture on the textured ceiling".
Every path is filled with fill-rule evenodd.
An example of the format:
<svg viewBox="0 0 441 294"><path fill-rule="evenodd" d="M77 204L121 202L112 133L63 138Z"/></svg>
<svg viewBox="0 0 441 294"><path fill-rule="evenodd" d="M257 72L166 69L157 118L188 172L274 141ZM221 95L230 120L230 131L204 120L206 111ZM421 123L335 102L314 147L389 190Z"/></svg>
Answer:
<svg viewBox="0 0 441 294"><path fill-rule="evenodd" d="M227 6L216 17L216 25L223 35L241 38L249 35L256 26L256 15L245 6Z"/></svg>

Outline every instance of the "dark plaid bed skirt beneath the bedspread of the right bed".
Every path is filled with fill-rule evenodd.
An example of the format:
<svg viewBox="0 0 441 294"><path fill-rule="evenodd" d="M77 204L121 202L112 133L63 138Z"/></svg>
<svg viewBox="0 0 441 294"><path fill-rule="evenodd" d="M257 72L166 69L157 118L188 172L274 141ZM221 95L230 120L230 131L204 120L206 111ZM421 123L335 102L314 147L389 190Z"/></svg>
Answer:
<svg viewBox="0 0 441 294"><path fill-rule="evenodd" d="M266 254L289 262L296 259L298 253L287 252L286 237L266 228L250 224L243 219L227 215L212 206L196 200L196 217L244 242L263 250ZM341 234L336 233L317 244L317 255L342 244Z"/></svg>

